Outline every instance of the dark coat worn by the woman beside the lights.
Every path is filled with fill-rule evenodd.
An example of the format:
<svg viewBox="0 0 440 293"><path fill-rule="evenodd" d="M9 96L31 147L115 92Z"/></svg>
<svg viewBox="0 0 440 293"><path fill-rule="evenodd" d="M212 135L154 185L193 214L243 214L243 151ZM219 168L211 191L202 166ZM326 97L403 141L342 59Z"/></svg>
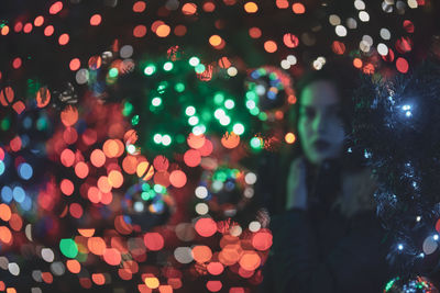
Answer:
<svg viewBox="0 0 440 293"><path fill-rule="evenodd" d="M338 168L326 173L327 180L308 176L308 190L315 191L308 211L283 211L289 161L272 157L264 164L268 177L261 178L260 191L263 199L272 196L267 206L273 246L261 292L383 292L393 277L385 260L386 233L373 211L344 217L330 209L338 191ZM267 172L267 164L278 170Z"/></svg>

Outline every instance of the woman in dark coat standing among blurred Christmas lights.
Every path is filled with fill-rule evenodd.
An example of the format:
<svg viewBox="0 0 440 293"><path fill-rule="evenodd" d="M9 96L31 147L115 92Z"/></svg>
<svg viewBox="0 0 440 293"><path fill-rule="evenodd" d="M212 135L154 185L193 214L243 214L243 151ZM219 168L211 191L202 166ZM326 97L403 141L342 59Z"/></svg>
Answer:
<svg viewBox="0 0 440 293"><path fill-rule="evenodd" d="M346 147L356 76L349 72L327 65L298 82L297 149L265 160L277 170L261 185L262 196L271 198L274 237L264 291L373 293L392 277L374 216L374 180Z"/></svg>

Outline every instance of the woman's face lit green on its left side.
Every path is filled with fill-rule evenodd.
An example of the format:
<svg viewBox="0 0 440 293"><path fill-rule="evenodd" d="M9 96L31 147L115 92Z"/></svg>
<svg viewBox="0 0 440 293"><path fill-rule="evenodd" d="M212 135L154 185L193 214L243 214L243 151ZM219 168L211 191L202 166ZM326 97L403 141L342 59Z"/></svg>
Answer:
<svg viewBox="0 0 440 293"><path fill-rule="evenodd" d="M340 115L340 97L333 83L318 80L299 97L298 135L307 159L320 165L342 154L345 132Z"/></svg>

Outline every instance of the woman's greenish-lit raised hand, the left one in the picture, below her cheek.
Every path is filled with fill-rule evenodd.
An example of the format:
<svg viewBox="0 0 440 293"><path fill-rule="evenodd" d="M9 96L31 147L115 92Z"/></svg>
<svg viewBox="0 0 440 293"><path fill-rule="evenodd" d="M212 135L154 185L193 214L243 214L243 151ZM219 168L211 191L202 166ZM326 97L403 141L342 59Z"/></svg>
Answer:
<svg viewBox="0 0 440 293"><path fill-rule="evenodd" d="M299 157L292 161L287 176L286 210L307 210L306 160Z"/></svg>

